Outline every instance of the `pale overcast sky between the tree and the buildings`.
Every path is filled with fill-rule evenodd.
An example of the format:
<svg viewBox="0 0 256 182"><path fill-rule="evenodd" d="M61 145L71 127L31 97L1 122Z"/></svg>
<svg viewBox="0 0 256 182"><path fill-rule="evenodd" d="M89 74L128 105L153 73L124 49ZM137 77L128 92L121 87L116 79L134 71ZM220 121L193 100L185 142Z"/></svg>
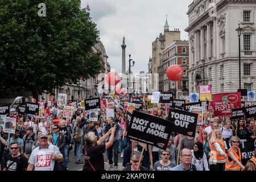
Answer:
<svg viewBox="0 0 256 182"><path fill-rule="evenodd" d="M90 16L100 30L101 42L109 56L110 67L122 72L122 40L126 43L126 70L129 54L135 61L133 73L148 72L151 43L163 33L166 14L170 30L179 28L181 40L188 40L188 5L192 0L81 0L90 6Z"/></svg>

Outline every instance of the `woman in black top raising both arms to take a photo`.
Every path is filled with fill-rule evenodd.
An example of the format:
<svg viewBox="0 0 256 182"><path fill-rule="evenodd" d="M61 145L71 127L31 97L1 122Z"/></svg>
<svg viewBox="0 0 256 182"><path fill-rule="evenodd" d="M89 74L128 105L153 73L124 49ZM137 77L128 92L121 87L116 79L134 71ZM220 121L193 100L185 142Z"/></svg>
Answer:
<svg viewBox="0 0 256 182"><path fill-rule="evenodd" d="M103 153L113 144L114 133L117 127L114 126L103 137L97 140L94 132L90 131L84 137L85 146L85 163L83 171L104 171L104 156ZM109 142L104 144L105 139L110 135ZM102 144L103 143L103 144Z"/></svg>

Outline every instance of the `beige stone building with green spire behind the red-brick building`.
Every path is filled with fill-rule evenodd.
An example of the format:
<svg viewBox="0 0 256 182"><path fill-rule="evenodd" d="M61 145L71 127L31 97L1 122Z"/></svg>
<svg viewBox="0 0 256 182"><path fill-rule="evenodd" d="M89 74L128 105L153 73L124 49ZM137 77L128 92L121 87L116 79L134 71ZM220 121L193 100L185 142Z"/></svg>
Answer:
<svg viewBox="0 0 256 182"><path fill-rule="evenodd" d="M162 60L162 52L168 47L174 40L180 40L180 31L178 28L175 28L174 31L169 30L168 21L166 18L166 23L164 24L164 34L160 33L156 37L155 41L152 42L152 60L151 60L151 72L150 82L152 86L152 92L158 91L158 67L160 65L160 60ZM148 73L150 73L148 71ZM150 88L151 90L151 88Z"/></svg>

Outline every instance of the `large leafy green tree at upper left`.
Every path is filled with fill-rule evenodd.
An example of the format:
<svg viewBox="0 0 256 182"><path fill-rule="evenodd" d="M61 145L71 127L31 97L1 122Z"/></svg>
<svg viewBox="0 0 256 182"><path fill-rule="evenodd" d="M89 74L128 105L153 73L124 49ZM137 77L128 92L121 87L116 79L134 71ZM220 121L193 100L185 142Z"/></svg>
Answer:
<svg viewBox="0 0 256 182"><path fill-rule="evenodd" d="M38 4L46 4L46 16ZM0 1L0 91L31 91L34 98L56 86L96 76L100 54L96 24L80 0Z"/></svg>

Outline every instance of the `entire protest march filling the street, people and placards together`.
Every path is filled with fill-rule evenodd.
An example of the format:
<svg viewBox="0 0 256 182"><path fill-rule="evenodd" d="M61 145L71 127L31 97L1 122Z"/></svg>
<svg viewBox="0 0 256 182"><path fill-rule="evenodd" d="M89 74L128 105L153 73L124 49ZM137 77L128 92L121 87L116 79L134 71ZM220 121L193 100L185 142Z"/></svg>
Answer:
<svg viewBox="0 0 256 182"><path fill-rule="evenodd" d="M156 92L68 101L59 94L15 111L0 105L1 170L72 170L74 148L82 171L105 170L104 155L107 170L255 169L256 106L242 107L240 93L207 94L212 100Z"/></svg>

